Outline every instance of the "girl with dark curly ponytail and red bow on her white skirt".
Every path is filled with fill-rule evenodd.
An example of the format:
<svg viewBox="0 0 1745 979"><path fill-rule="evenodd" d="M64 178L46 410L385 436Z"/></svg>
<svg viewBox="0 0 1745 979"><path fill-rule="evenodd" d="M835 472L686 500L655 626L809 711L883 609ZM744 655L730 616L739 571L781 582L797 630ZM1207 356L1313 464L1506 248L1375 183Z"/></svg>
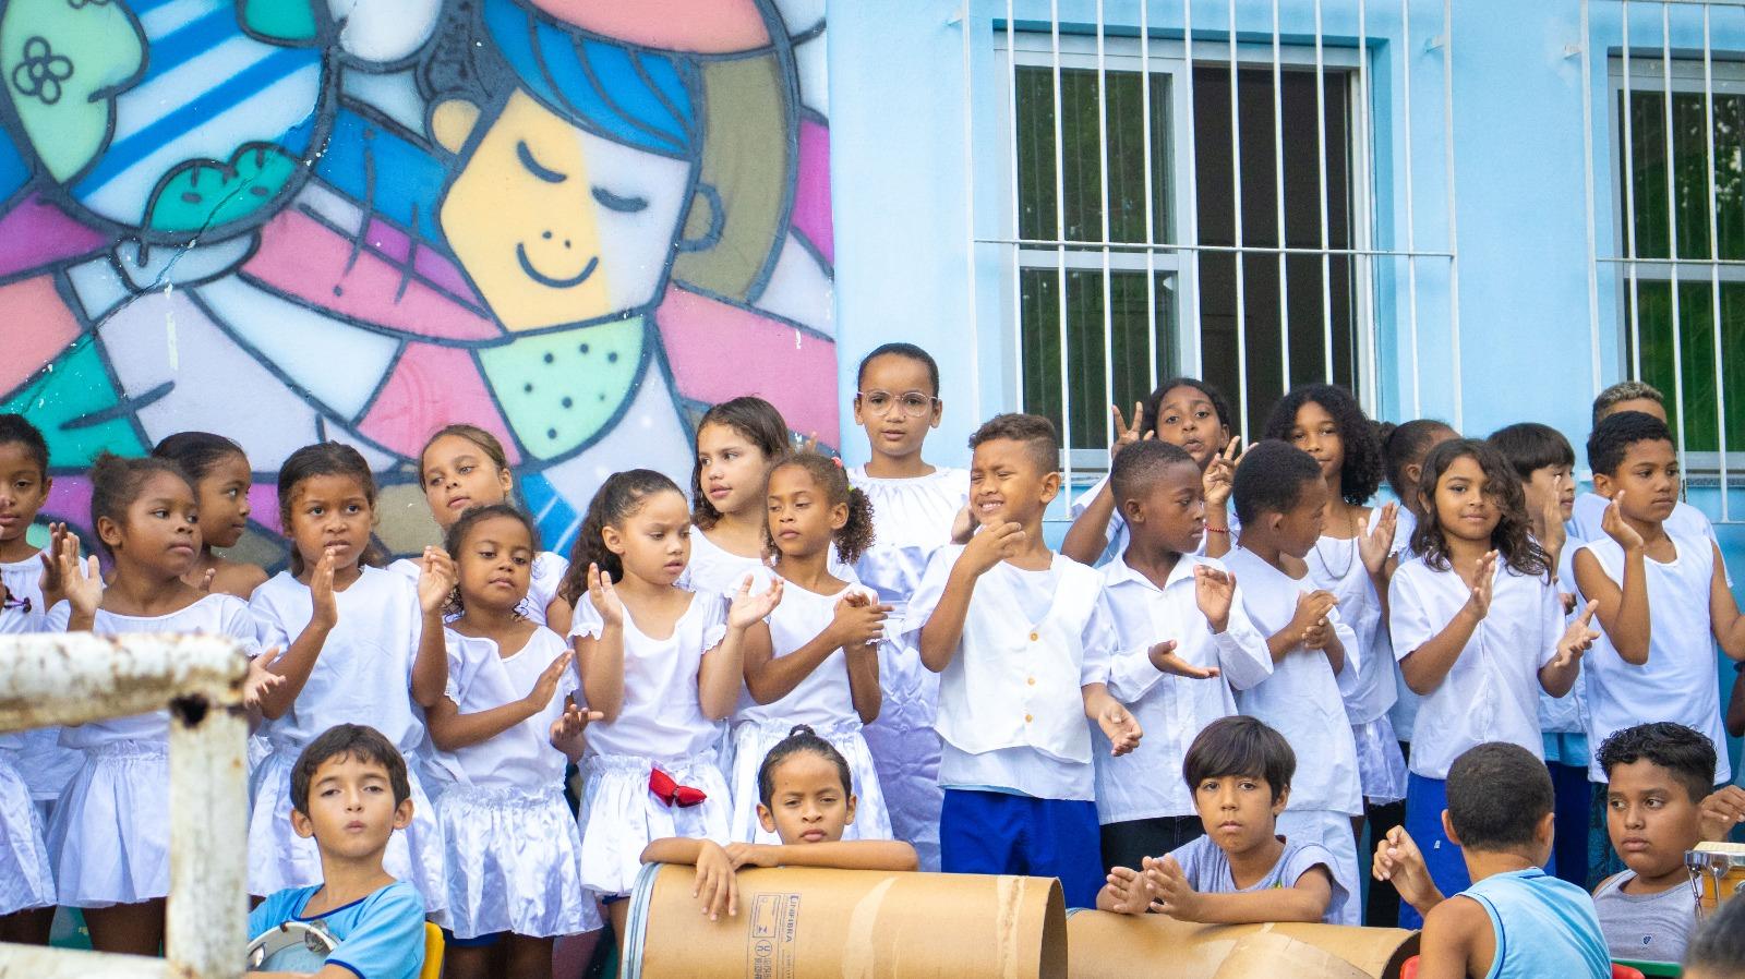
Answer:
<svg viewBox="0 0 1745 979"><path fill-rule="evenodd" d="M651 839L729 838L721 721L745 682L745 633L782 599L780 579L750 597L750 574L731 606L679 588L691 539L672 480L614 473L588 504L562 586L583 695L602 715L583 763L581 887L606 897L619 941Z"/></svg>

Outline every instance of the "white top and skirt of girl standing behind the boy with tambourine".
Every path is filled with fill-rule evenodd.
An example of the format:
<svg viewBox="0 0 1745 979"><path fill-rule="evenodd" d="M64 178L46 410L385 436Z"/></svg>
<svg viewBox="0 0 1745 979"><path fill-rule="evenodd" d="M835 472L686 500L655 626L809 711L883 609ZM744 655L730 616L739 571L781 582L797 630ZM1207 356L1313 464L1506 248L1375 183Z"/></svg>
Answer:
<svg viewBox="0 0 1745 979"><path fill-rule="evenodd" d="M316 841L291 831L291 766L328 728L368 724L405 756L412 784L412 825L387 841L382 867L419 888L424 907L445 921L441 827L419 775L424 712L412 703L412 667L424 628L417 586L401 574L365 567L333 599L339 625L328 633L309 681L291 709L262 728L272 752L250 780L248 890L267 895L321 883ZM281 654L314 616L309 586L283 571L255 588L250 607L260 623L260 647L277 647Z"/></svg>

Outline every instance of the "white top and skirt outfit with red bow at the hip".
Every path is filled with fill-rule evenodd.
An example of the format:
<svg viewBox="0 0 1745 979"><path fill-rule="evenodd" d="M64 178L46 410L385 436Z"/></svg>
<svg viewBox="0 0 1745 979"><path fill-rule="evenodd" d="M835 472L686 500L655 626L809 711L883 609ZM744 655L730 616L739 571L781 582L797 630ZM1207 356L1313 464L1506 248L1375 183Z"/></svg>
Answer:
<svg viewBox="0 0 1745 979"><path fill-rule="evenodd" d="M571 637L599 637L593 602L576 607ZM722 724L703 715L696 674L703 653L728 633L726 602L696 593L654 639L625 616L625 702L611 722L588 724L581 813L581 885L602 897L628 895L642 871L642 850L667 836L731 841L733 799L721 771ZM703 792L691 806L649 791L654 770Z"/></svg>

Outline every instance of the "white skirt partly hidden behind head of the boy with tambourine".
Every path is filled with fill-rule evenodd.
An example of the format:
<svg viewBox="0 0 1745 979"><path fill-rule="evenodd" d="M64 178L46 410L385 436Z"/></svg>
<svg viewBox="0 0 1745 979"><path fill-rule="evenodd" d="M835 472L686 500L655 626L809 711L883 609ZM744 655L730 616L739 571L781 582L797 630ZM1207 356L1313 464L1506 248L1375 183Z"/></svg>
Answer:
<svg viewBox="0 0 1745 979"><path fill-rule="evenodd" d="M291 829L291 766L297 756L274 750L255 770L250 785L253 810L248 817L248 892L257 897L321 883L321 852L314 839ZM424 909L438 925L447 925L448 887L443 881L441 827L436 810L419 782L419 757L407 756L407 780L412 784L412 825L387 839L382 869L415 887Z"/></svg>

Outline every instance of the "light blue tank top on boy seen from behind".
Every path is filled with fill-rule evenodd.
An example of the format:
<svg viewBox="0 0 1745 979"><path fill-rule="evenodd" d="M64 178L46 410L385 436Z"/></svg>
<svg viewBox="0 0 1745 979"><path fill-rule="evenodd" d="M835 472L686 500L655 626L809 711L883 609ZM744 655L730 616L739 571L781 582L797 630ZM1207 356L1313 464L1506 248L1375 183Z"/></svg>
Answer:
<svg viewBox="0 0 1745 979"><path fill-rule="evenodd" d="M1539 867L1492 874L1461 892L1490 916L1497 956L1485 979L1609 979L1612 960L1593 899Z"/></svg>

